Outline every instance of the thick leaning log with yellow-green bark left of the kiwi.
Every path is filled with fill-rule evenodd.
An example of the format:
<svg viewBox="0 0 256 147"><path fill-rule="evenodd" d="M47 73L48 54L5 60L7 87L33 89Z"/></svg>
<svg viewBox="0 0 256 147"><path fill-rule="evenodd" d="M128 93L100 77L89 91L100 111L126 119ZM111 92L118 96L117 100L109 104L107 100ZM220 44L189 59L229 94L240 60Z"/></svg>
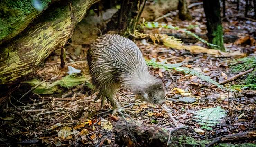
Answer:
<svg viewBox="0 0 256 147"><path fill-rule="evenodd" d="M17 82L55 49L64 46L75 25L99 0L71 0L51 5L10 43L1 46L0 85Z"/></svg>

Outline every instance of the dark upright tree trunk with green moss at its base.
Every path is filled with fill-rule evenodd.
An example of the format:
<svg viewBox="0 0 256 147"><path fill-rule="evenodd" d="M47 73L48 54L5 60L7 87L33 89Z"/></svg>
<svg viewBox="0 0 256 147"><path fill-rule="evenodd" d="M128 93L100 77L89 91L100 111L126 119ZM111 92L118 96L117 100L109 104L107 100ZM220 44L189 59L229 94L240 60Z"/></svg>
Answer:
<svg viewBox="0 0 256 147"><path fill-rule="evenodd" d="M221 25L219 0L203 0L203 8L206 16L207 37L209 42L219 47L211 47L225 51L223 42L223 28Z"/></svg>

